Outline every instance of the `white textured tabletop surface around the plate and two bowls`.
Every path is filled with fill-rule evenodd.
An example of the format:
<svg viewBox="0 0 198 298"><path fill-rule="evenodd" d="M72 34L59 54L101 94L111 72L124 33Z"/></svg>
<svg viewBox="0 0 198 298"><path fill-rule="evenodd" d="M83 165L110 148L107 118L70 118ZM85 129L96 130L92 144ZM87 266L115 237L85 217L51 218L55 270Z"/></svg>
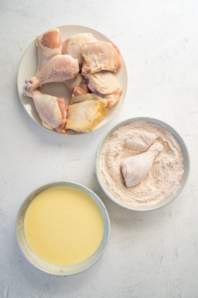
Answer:
<svg viewBox="0 0 198 298"><path fill-rule="evenodd" d="M197 16L197 0L0 2L0 297L197 297ZM121 110L91 134L64 136L43 129L26 114L17 92L23 52L37 35L65 24L93 27L110 37L128 68ZM101 190L94 170L104 133L138 116L175 128L191 158L182 193L152 212L114 204ZM50 276L31 266L15 238L22 201L33 189L55 180L90 187L106 205L111 221L102 258L71 277Z"/></svg>

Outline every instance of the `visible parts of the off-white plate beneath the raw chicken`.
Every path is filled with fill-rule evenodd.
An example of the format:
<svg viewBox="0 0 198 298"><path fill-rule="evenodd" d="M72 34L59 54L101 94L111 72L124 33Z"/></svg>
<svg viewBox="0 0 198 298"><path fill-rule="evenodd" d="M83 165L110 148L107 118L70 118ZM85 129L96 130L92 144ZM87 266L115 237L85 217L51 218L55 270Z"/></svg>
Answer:
<svg viewBox="0 0 198 298"><path fill-rule="evenodd" d="M79 25L65 25L57 28L60 30L62 41L77 33L89 32L89 33L92 33L100 41L113 43L113 41L111 41L107 36L89 27L79 26ZM40 34L42 33L43 32L40 32ZM119 44L117 44L117 46L119 47ZM123 104L123 101L126 95L128 78L127 78L126 65L124 63L122 55L121 55L121 62L122 62L122 68L118 72L114 72L115 77L117 78L118 82L123 88L123 93L121 95L120 101L108 110L107 115L96 125L93 131L107 124L118 113L119 109L121 108L121 105ZM32 77L36 74L37 64L38 64L37 46L36 46L36 40L34 40L28 46L20 61L20 65L18 69L18 77L17 77L17 86L18 86L19 97L24 109L35 122L37 122L39 125L44 127L42 125L41 119L39 118L39 114L37 113L37 110L34 106L33 100L30 97L23 96L23 91L22 91L23 86L25 85L25 80L28 77ZM64 83L45 84L42 87L42 93L64 98L67 105L69 104L69 100L71 97L71 94L67 90ZM58 134L63 134L62 132L58 132L55 129L50 131L56 132ZM68 130L66 134L78 134L78 133L72 130Z"/></svg>

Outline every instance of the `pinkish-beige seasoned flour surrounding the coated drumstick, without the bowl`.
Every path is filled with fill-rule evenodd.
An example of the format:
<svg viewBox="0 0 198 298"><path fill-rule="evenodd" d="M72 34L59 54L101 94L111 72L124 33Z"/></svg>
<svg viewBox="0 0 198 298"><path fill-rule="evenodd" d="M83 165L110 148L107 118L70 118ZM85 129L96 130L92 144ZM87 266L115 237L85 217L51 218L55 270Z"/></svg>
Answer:
<svg viewBox="0 0 198 298"><path fill-rule="evenodd" d="M164 149L155 157L152 168L137 186L127 188L120 168L122 159L146 152L154 142ZM170 196L183 176L183 155L175 137L147 120L136 120L117 128L102 150L100 174L113 195L133 206L154 205Z"/></svg>

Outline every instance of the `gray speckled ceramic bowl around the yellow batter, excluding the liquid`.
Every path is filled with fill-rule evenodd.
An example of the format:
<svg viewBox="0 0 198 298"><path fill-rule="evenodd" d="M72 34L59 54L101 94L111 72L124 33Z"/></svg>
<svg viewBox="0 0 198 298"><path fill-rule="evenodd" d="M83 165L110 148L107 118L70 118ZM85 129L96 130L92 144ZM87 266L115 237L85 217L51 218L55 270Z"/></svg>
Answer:
<svg viewBox="0 0 198 298"><path fill-rule="evenodd" d="M31 248L29 247L29 245L27 243L25 233L24 233L24 217L26 214L26 210L27 210L29 204L31 203L31 201L35 198L36 195L38 195L43 190L46 190L46 189L48 189L50 187L54 187L54 186L60 186L60 185L68 185L68 186L76 187L80 190L85 191L88 195L90 195L91 198L93 198L93 200L99 206L99 208L102 212L102 217L103 217L103 221L104 221L103 238L102 238L100 246L98 247L96 252L91 257L89 257L87 260L85 260L79 264L75 264L75 265L71 265L71 266L53 265L51 263L48 263L48 262L42 260L40 257L38 257L31 250ZM53 275L64 275L64 276L72 275L72 274L80 273L80 272L90 268L92 265L94 265L99 260L99 258L104 253L104 251L107 247L109 235L110 235L110 220L109 220L109 216L107 213L107 209L105 208L104 204L92 190L88 189L87 187L85 187L81 184L74 183L74 182L53 182L53 183L49 183L49 184L46 184L46 185L43 185L43 186L37 188L36 190L34 190L32 193L30 193L27 196L25 201L23 201L23 203L18 211L18 215L17 215L17 219L16 219L17 241L18 241L18 245L19 245L21 251L23 252L24 256L32 265L34 265L38 269L40 269L46 273L53 274Z"/></svg>

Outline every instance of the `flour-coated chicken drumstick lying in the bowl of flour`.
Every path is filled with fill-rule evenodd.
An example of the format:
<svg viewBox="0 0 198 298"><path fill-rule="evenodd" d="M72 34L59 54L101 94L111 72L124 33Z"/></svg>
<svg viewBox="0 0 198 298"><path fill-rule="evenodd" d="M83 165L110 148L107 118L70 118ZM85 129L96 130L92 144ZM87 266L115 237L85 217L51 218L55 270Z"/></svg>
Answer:
<svg viewBox="0 0 198 298"><path fill-rule="evenodd" d="M155 156L163 150L163 145L155 142L146 152L127 157L121 162L121 170L126 187L139 184L151 170Z"/></svg>

